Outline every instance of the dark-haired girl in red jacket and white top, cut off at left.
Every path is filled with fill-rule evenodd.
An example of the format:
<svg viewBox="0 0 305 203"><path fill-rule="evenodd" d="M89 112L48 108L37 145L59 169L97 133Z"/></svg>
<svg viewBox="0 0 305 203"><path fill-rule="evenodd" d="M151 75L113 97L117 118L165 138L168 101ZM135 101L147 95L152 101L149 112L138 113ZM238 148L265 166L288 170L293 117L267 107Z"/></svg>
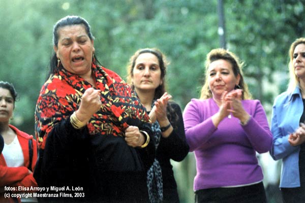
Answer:
<svg viewBox="0 0 305 203"><path fill-rule="evenodd" d="M37 187L33 177L37 160L36 140L9 124L16 96L12 84L0 81L0 134L4 139L0 154L0 202L16 202L16 199L20 202L14 194L31 193L34 192L31 187Z"/></svg>

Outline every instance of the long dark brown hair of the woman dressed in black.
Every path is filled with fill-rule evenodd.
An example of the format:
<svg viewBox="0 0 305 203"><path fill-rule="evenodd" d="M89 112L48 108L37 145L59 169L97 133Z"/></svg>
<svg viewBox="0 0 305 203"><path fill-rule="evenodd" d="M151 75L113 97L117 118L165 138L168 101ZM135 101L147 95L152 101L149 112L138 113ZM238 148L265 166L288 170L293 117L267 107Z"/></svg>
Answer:
<svg viewBox="0 0 305 203"><path fill-rule="evenodd" d="M144 53L154 54L158 58L159 67L161 70L161 81L162 81L162 84L159 85L155 91L154 99L158 99L166 92L165 75L166 75L167 65L169 64L169 62L166 60L166 56L159 49L145 48L145 49L137 50L136 53L133 56L131 56L131 58L129 59L129 64L127 66L127 71L128 71L127 81L130 84L131 88L134 89L135 86L134 84L132 84L133 70L137 58L139 57L139 55ZM171 105L167 105L167 117L169 118L170 121L176 121L178 119L178 116L175 113L174 109L171 107Z"/></svg>

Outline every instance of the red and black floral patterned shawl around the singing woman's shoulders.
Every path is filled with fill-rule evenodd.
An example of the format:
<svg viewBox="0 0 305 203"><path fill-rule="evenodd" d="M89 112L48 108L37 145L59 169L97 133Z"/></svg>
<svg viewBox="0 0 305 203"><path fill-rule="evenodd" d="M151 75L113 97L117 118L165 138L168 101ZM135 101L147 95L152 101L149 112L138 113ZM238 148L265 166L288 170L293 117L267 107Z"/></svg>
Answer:
<svg viewBox="0 0 305 203"><path fill-rule="evenodd" d="M133 90L116 73L92 64L102 106L87 124L89 134L124 136L129 125L149 122ZM36 105L35 132L40 149L52 128L79 108L86 89L93 87L83 78L59 68L43 85Z"/></svg>

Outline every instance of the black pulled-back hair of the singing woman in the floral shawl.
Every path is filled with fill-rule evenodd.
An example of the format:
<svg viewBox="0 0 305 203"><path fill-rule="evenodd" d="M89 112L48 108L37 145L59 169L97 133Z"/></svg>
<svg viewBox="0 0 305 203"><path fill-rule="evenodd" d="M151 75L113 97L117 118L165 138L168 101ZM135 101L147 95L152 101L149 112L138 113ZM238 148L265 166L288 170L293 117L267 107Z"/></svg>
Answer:
<svg viewBox="0 0 305 203"><path fill-rule="evenodd" d="M57 47L58 45L58 29L61 27L69 26L69 25L83 25L86 33L90 40L94 40L95 37L92 35L92 32L90 30L89 23L82 17L79 16L66 16L60 20L58 20L55 25L53 26L53 46ZM93 56L95 61L98 61L96 56ZM54 73L54 71L57 69L57 56L54 52L50 59L50 72L47 75L47 78Z"/></svg>

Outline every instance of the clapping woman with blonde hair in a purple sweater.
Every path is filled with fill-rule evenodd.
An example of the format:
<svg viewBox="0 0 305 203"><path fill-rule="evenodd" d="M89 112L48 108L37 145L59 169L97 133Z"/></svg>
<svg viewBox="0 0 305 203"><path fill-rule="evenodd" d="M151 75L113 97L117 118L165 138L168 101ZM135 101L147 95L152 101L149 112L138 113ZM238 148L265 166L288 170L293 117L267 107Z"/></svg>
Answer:
<svg viewBox="0 0 305 203"><path fill-rule="evenodd" d="M185 108L186 138L196 157L195 202L266 202L256 152L270 150L272 134L241 67L234 53L211 50L200 99Z"/></svg>

